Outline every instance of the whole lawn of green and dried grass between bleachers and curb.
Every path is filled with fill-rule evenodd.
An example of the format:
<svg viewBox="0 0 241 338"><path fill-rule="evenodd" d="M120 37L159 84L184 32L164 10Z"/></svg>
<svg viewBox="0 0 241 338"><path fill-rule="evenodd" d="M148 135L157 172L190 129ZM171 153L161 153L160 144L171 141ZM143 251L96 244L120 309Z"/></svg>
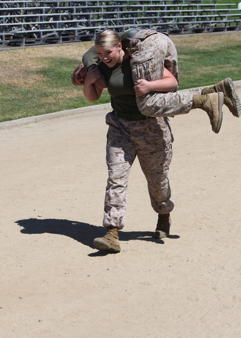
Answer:
<svg viewBox="0 0 241 338"><path fill-rule="evenodd" d="M172 40L178 51L179 89L214 84L226 77L241 80L240 34L192 35ZM59 55L63 46L53 47L50 56L45 56L50 47L0 52L0 57L4 56L0 70L0 122L110 102L105 90L97 102L89 103L82 88L71 83L70 76L81 62L83 46L65 46L62 57ZM79 58L73 57L73 53L79 54Z"/></svg>

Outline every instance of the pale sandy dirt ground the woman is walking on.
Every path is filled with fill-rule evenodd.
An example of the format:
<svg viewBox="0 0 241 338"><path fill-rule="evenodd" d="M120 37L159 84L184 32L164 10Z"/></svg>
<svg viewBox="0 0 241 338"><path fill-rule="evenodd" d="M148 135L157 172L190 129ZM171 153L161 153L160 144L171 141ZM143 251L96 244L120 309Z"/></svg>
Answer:
<svg viewBox="0 0 241 338"><path fill-rule="evenodd" d="M241 97L241 88L237 90ZM241 337L241 118L170 119L170 236L138 160L122 251L104 235L107 111L0 130L1 337Z"/></svg>

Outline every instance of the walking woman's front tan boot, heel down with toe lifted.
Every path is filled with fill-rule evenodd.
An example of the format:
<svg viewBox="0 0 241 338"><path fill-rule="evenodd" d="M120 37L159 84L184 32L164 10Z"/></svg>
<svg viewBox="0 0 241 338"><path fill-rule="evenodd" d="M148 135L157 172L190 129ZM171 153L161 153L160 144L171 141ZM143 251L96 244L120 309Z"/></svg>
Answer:
<svg viewBox="0 0 241 338"><path fill-rule="evenodd" d="M118 229L112 226L108 226L106 235L104 237L95 238L94 245L98 250L119 252L120 246Z"/></svg>

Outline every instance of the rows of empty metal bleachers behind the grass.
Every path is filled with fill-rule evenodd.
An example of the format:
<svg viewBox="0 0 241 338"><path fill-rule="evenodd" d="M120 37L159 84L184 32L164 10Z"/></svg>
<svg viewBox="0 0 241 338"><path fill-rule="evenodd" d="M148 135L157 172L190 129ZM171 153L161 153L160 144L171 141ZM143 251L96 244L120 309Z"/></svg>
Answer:
<svg viewBox="0 0 241 338"><path fill-rule="evenodd" d="M169 34L241 29L241 10L222 1L0 1L0 46L90 41L108 28Z"/></svg>

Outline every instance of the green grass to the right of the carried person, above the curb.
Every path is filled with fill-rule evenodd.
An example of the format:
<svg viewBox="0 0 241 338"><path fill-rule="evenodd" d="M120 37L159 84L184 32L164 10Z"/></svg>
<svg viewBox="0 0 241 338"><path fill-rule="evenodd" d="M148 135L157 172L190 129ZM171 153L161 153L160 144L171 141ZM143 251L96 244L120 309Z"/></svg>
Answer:
<svg viewBox="0 0 241 338"><path fill-rule="evenodd" d="M232 34L226 36L233 37ZM204 44L205 40L208 39L204 39ZM208 86L226 77L241 80L241 38L236 42L226 39L208 50L196 47L195 43L189 48L177 46L177 52L180 90Z"/></svg>

